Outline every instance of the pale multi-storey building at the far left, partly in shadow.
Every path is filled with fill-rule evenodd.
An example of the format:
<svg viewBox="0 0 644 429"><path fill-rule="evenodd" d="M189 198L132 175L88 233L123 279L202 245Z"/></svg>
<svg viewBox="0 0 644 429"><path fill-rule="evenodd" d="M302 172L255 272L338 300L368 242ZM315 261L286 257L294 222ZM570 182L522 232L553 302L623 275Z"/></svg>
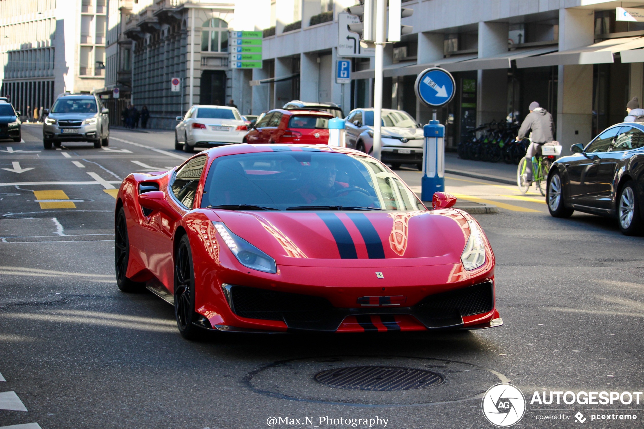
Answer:
<svg viewBox="0 0 644 429"><path fill-rule="evenodd" d="M0 94L24 116L103 87L105 20L106 0L0 1Z"/></svg>

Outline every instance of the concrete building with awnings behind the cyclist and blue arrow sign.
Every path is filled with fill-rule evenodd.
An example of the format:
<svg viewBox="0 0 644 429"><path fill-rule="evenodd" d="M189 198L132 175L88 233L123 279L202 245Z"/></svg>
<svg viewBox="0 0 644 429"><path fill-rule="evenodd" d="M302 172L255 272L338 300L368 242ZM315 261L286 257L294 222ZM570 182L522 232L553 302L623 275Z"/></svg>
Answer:
<svg viewBox="0 0 644 429"><path fill-rule="evenodd" d="M295 3L294 3L295 2ZM297 4L296 4L297 3ZM253 70L254 113L292 98L332 101L345 113L373 105L373 62L354 59L350 90L335 84L337 14L348 0L273 0L274 27L264 39L264 67ZM452 102L439 109L448 123L448 147L477 124L506 120L538 101L556 118L556 138L570 143L625 116L632 96L643 95L644 23L616 21L616 6L598 0L403 0L414 10L403 24L413 33L386 45L383 107L404 109L426 123L413 83L423 69L440 66L457 81ZM319 23L321 8L333 20ZM274 33L274 34L273 34ZM346 85L348 86L348 85Z"/></svg>

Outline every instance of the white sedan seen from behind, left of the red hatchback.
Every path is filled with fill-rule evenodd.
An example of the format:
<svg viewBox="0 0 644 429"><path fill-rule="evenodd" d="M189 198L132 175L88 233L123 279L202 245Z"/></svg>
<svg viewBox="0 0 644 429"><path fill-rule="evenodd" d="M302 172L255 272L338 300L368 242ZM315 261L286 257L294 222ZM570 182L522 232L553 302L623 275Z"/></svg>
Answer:
<svg viewBox="0 0 644 429"><path fill-rule="evenodd" d="M234 107L193 105L175 127L175 149L194 152L195 147L216 147L242 143L248 125Z"/></svg>

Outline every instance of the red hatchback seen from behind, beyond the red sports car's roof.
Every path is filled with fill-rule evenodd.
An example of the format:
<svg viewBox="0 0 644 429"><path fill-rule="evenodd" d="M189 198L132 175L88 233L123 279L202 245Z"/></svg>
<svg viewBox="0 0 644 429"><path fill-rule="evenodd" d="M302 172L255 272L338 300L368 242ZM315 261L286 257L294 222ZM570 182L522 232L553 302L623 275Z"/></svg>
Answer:
<svg viewBox="0 0 644 429"><path fill-rule="evenodd" d="M244 143L328 144L328 120L323 111L275 109L267 113L244 138Z"/></svg>

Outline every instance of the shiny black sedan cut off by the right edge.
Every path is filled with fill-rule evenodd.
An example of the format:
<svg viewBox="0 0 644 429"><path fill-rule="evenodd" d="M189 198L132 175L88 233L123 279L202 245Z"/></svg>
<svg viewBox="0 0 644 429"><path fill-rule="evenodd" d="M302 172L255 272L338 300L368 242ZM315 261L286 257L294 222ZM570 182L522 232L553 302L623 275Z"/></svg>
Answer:
<svg viewBox="0 0 644 429"><path fill-rule="evenodd" d="M550 169L547 205L554 217L574 210L615 217L625 235L639 235L644 219L644 123L612 125L590 143L571 146Z"/></svg>

